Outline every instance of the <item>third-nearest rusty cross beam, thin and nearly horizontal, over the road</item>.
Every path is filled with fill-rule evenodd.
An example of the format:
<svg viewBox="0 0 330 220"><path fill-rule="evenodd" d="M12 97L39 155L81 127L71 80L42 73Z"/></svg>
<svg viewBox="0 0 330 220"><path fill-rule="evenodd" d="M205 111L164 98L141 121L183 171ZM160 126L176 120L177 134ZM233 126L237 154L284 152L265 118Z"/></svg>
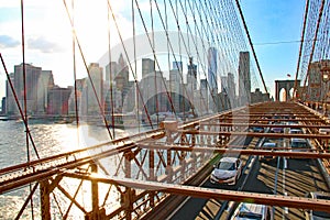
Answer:
<svg viewBox="0 0 330 220"><path fill-rule="evenodd" d="M288 134L288 133L257 133L257 132L215 132L215 131L201 131L201 130L178 130L178 132L185 134L199 134L199 135L222 135L222 136L255 136L255 138L299 138L299 139L330 139L327 134Z"/></svg>

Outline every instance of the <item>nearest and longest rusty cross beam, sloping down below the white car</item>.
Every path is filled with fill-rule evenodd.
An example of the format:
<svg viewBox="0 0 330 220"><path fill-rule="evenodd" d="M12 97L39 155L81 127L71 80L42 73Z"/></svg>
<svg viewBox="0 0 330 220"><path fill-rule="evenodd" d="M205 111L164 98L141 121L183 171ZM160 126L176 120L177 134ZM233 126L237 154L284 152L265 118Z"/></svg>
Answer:
<svg viewBox="0 0 330 220"><path fill-rule="evenodd" d="M148 180L139 180L119 177L96 177L81 174L66 173L65 176L85 180L96 180L103 184L121 185L131 188L139 188L148 191L163 191L166 194L191 196L197 198L221 199L228 201L245 201L253 204L264 204L270 206L312 209L319 211L329 211L330 201L324 199L309 199L304 197L289 197L268 194L255 194L245 191L234 191L215 188L205 188L196 186L184 186L176 184L165 184Z"/></svg>

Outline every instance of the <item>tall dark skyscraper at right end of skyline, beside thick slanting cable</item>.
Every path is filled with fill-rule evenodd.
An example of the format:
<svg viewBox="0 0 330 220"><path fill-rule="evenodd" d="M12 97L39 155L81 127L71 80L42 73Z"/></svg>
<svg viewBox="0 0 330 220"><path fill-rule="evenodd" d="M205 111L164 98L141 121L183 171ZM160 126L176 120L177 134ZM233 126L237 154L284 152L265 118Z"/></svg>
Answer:
<svg viewBox="0 0 330 220"><path fill-rule="evenodd" d="M240 103L246 105L251 101L251 74L250 74L250 54L240 52L239 64L239 96Z"/></svg>

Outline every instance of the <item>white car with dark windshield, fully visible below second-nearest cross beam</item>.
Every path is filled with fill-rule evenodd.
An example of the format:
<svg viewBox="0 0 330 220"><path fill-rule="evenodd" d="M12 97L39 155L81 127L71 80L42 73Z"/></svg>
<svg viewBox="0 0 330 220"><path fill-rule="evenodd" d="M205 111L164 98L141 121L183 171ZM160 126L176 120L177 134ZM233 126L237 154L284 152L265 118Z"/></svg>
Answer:
<svg viewBox="0 0 330 220"><path fill-rule="evenodd" d="M242 162L237 157L222 157L211 173L212 184L235 185L242 174Z"/></svg>

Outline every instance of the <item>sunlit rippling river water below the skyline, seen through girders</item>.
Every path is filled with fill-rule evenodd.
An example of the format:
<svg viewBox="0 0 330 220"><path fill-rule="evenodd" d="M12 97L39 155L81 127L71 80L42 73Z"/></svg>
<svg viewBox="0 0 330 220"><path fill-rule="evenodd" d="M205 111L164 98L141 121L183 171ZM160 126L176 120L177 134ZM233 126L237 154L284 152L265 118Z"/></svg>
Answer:
<svg viewBox="0 0 330 220"><path fill-rule="evenodd" d="M110 141L106 127L100 125L80 125L78 129L74 124L30 120L29 130L31 131L34 145L37 148L37 153L41 158ZM0 168L26 162L26 145L29 145L31 161L36 160L36 154L31 141L26 144L25 128L22 121L0 121ZM116 135L119 138L129 135L133 132L134 131L131 130L124 131L117 129ZM66 182L64 180L62 184L76 187L78 182L70 179ZM14 219L29 193L30 188L23 187L14 191L0 195L0 219ZM81 197L80 201L82 202L85 202L84 199L90 199L90 195L78 196ZM33 216L35 216L34 219L40 219L38 199L38 193L36 193L33 197L34 208L31 209L31 206L29 205L21 219L32 219L32 212ZM61 201L61 198L57 199ZM114 200L116 199L118 200L118 198L114 198ZM109 206L111 206L111 204ZM84 219L81 211L76 210L77 215L75 215L75 209L73 210L74 211L72 211L69 219ZM53 219L61 219L58 213L52 215Z"/></svg>

